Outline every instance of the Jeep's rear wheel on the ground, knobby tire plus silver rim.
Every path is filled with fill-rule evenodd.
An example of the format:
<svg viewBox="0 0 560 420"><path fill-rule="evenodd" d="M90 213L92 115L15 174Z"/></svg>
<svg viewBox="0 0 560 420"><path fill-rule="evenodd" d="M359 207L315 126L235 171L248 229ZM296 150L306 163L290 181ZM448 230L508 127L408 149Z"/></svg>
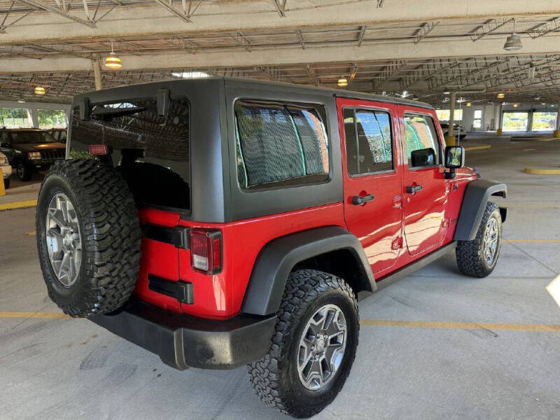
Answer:
<svg viewBox="0 0 560 420"><path fill-rule="evenodd" d="M321 412L348 377L358 321L356 297L343 279L312 269L291 273L272 346L248 365L260 399L298 418Z"/></svg>

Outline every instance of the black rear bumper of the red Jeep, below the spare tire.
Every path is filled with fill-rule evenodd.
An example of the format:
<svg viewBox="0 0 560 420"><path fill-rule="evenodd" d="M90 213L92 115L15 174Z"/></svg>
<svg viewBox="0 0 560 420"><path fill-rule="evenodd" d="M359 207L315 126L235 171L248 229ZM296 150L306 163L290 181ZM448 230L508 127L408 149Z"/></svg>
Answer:
<svg viewBox="0 0 560 420"><path fill-rule="evenodd" d="M214 321L138 300L116 314L89 319L179 370L233 369L258 360L269 350L276 324L276 316L241 314Z"/></svg>

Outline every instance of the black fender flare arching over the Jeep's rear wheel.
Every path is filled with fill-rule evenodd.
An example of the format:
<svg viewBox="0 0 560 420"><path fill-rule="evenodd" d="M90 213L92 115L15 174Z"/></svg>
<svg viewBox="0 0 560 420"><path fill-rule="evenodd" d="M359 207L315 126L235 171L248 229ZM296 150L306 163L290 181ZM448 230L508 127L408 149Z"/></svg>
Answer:
<svg viewBox="0 0 560 420"><path fill-rule="evenodd" d="M369 292L377 285L358 238L339 226L304 230L270 241L258 254L245 291L241 312L270 315L280 307L288 274L301 261L318 255L347 249L356 258L359 275L367 279Z"/></svg>

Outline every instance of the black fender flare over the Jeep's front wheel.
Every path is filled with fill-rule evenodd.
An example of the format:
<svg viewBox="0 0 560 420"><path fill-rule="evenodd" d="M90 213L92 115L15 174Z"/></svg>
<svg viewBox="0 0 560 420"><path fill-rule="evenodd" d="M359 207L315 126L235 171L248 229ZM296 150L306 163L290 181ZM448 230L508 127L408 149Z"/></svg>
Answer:
<svg viewBox="0 0 560 420"><path fill-rule="evenodd" d="M491 195L500 195L505 198L507 195L505 183L489 179L475 179L467 184L461 211L459 211L454 240L472 241L472 239L475 239L484 209L486 209L486 203L488 203ZM500 214L502 214L502 219L505 220L505 209L503 210L500 209Z"/></svg>

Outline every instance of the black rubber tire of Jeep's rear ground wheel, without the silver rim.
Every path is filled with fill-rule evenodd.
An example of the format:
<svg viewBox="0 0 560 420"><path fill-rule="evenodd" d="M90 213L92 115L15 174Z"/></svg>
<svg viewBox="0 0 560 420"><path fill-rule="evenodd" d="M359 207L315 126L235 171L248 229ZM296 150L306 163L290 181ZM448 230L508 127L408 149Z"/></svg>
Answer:
<svg viewBox="0 0 560 420"><path fill-rule="evenodd" d="M307 321L325 304L336 304L346 318L346 348L335 376L323 389L305 388L297 373L297 349ZM342 389L356 357L358 303L351 287L332 274L302 269L292 272L278 313L269 352L248 365L251 385L267 405L297 418L321 412Z"/></svg>

